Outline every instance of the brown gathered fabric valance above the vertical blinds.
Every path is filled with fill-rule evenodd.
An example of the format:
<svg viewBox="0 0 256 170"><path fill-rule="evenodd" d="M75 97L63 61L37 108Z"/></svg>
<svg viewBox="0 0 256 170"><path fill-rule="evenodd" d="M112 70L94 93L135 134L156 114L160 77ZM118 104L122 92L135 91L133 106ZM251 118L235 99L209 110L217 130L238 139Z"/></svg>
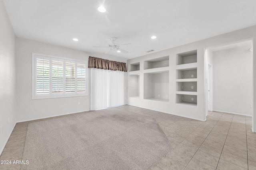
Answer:
<svg viewBox="0 0 256 170"><path fill-rule="evenodd" d="M104 70L119 70L127 72L126 63L121 63L117 61L110 61L106 59L100 59L97 57L89 57L88 68L100 68Z"/></svg>

